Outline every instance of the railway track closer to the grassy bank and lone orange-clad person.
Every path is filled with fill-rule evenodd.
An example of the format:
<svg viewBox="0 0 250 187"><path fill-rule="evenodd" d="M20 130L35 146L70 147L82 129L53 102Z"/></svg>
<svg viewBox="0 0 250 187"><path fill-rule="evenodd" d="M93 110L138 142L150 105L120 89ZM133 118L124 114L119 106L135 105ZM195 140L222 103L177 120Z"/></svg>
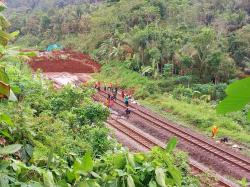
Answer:
<svg viewBox="0 0 250 187"><path fill-rule="evenodd" d="M98 94L103 98L106 98L107 96L107 93L104 91L101 91ZM119 105L119 107L125 109L124 103L121 99L117 99L116 104ZM204 138L202 139L190 132L186 132L184 128L175 126L169 122L164 121L161 117L150 114L149 112L145 112L140 107L134 105L130 105L130 107L134 109L134 115L137 115L138 117L150 122L158 128L175 135L179 139L182 139L185 142L188 142L189 144L199 147L200 149L206 151L209 154L213 154L222 162L227 162L231 166L237 167L242 171L242 173L244 173L244 176L242 176L242 178L245 177L250 180L249 159L246 159L239 154L227 150L224 147L222 148L209 140L204 140Z"/></svg>

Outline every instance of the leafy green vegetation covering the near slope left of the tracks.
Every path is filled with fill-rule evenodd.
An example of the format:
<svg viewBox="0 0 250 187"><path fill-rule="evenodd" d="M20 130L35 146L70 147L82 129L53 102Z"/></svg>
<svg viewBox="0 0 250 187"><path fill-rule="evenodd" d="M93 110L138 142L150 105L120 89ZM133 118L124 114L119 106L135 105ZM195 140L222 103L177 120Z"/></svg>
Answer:
<svg viewBox="0 0 250 187"><path fill-rule="evenodd" d="M5 6L0 3L0 11ZM186 155L166 149L130 153L108 136L109 110L92 100L93 89L55 90L8 43L0 15L0 186L144 187L189 186ZM27 56L28 55L28 56Z"/></svg>

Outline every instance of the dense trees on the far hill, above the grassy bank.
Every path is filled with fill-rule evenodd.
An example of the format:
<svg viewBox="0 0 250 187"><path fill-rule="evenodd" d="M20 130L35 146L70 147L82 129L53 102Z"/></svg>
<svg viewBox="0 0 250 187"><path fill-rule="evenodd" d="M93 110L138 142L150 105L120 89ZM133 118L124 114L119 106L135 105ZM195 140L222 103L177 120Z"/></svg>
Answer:
<svg viewBox="0 0 250 187"><path fill-rule="evenodd" d="M170 73L220 83L249 66L247 0L48 2L27 1L26 10L11 10L11 31L20 30L32 46L61 41L82 51L97 49L98 60L126 60L154 78Z"/></svg>

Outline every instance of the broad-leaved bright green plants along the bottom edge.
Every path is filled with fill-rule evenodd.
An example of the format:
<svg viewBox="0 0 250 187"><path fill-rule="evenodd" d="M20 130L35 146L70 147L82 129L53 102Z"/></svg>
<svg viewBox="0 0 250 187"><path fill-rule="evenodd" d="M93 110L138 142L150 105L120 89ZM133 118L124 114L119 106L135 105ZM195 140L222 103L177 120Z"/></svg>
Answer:
<svg viewBox="0 0 250 187"><path fill-rule="evenodd" d="M35 165L26 166L16 160L1 161L1 180L5 184L37 184L39 186L181 186L184 184L188 168L181 165L180 171L175 164L185 159L175 153L176 158L166 150L153 148L148 153L129 153L128 151L109 152L100 159L93 159L86 152L82 159L74 159L71 166L52 155L49 169ZM55 165L55 163L59 165ZM26 177L29 175L29 177ZM3 183L3 181L1 181ZM197 184L189 178L187 185Z"/></svg>

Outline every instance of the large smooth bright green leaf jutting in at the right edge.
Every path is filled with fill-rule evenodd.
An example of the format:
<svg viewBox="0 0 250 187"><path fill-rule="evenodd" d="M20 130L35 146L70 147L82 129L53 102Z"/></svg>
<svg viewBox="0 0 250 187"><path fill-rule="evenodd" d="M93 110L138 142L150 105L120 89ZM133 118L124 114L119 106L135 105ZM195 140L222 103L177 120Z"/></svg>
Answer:
<svg viewBox="0 0 250 187"><path fill-rule="evenodd" d="M250 78L235 81L226 89L227 97L219 103L217 111L221 114L238 111L250 103ZM250 114L248 113L248 117ZM248 118L250 120L250 118Z"/></svg>

